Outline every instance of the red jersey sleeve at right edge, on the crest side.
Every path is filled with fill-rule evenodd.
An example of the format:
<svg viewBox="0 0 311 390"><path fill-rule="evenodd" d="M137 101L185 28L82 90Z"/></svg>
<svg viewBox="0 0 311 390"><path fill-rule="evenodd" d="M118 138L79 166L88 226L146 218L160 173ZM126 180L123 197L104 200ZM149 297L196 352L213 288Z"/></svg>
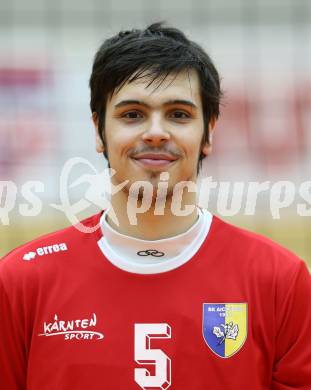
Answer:
<svg viewBox="0 0 311 390"><path fill-rule="evenodd" d="M303 262L291 285L282 287L278 299L271 390L310 390L311 278Z"/></svg>

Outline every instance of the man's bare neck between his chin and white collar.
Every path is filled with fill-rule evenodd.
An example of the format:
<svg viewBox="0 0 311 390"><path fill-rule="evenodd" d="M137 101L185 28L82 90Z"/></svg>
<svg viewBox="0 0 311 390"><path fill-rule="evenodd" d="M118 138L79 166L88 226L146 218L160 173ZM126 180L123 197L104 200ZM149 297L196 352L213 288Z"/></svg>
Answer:
<svg viewBox="0 0 311 390"><path fill-rule="evenodd" d="M176 236L187 231L198 219L196 194L193 192L185 193L181 205L173 203L172 198L162 203L153 199L149 209L142 212L144 205L141 201L128 201L128 193L120 191L112 196L111 206L107 215L109 225L121 234L142 240ZM112 210L118 225L114 222ZM185 213L185 210L189 211Z"/></svg>

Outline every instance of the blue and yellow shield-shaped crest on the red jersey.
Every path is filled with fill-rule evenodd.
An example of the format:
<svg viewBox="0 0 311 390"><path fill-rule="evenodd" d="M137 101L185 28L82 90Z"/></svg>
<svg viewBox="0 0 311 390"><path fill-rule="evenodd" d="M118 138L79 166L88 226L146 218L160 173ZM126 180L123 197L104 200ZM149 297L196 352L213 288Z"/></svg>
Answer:
<svg viewBox="0 0 311 390"><path fill-rule="evenodd" d="M203 336L216 355L236 354L247 338L247 303L203 303Z"/></svg>

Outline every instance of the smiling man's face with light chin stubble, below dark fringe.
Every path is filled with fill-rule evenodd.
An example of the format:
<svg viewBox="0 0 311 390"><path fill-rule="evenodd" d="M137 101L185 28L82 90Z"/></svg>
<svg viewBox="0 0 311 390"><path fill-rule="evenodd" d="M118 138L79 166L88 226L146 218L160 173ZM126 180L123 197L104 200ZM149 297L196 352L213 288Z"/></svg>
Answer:
<svg viewBox="0 0 311 390"><path fill-rule="evenodd" d="M153 184L160 173L169 173L168 194L180 181L196 181L204 121L199 78L195 71L170 75L158 87L149 79L127 83L112 95L106 106L103 146L97 136L97 151L106 150L113 183L129 180ZM97 121L95 120L95 124Z"/></svg>

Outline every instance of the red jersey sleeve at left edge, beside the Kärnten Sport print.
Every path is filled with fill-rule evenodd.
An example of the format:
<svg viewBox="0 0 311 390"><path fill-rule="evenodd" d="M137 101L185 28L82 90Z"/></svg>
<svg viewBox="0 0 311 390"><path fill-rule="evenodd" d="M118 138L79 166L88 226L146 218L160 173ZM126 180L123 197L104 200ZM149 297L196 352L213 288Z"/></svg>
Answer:
<svg viewBox="0 0 311 390"><path fill-rule="evenodd" d="M0 389L26 389L26 343L20 297L7 288L5 265L0 262Z"/></svg>

